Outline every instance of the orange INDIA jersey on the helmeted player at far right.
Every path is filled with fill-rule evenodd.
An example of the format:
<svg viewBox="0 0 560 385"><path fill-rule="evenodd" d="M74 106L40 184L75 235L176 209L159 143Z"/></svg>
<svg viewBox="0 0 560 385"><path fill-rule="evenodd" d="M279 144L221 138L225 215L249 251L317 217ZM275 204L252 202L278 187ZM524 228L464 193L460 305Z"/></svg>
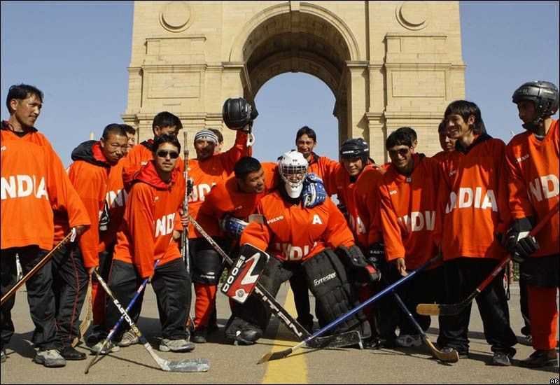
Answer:
<svg viewBox="0 0 560 385"><path fill-rule="evenodd" d="M531 132L512 138L505 149L510 172L512 219L531 216L538 223L559 201L559 124L552 120L542 141ZM560 253L559 215L535 236L540 250L531 256Z"/></svg>

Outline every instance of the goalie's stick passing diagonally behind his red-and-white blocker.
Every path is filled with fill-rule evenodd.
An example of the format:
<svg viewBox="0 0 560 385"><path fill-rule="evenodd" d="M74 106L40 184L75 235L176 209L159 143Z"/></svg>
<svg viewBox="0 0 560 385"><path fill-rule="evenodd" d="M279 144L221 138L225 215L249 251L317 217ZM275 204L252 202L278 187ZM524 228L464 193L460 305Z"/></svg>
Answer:
<svg viewBox="0 0 560 385"><path fill-rule="evenodd" d="M225 251L222 250L222 248L216 243L216 241L214 241L214 239L212 239L212 237L208 235L206 231L204 231L202 226L199 223L197 223L197 221L195 221L195 218L189 216L189 221L190 223L193 223L193 225L198 230L198 232L200 232L200 234L202 234L202 236L209 242L209 244L211 244L211 246L214 247L216 251L218 251L218 253L224 258L224 260L228 262L230 265L233 265L233 261L230 258L230 256L226 254ZM274 314L274 316L276 316L276 318L278 318L281 323L286 325L286 328L288 328L288 330L290 330L290 332L292 332L292 334L297 339L300 340L302 338L307 339L308 337L311 336L309 332L293 318L293 316L290 316L288 311L286 311L282 307L282 305L276 301L276 298L274 298L274 296L270 294L268 290L264 286L262 286L260 282L257 281L257 284L253 289L253 293L259 295L260 300L262 300L262 302L265 302L265 304L267 304L267 306L272 311L272 314ZM360 332L358 332L357 330L351 330L349 332L344 332L336 336L323 337L321 339L316 340L315 342L307 344L307 346L311 348L320 349L326 346L330 346L330 347L349 346L349 345L358 344L359 342L360 342Z"/></svg>

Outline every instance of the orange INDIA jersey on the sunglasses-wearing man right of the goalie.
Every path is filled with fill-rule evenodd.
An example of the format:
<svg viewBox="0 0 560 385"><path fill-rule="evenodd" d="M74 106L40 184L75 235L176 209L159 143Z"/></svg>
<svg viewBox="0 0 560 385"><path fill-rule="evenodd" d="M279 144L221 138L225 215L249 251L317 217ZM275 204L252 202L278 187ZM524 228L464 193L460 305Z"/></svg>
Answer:
<svg viewBox="0 0 560 385"><path fill-rule="evenodd" d="M417 153L412 159L409 176L388 168L379 183L379 200L386 259L405 258L407 269L413 270L437 255L433 235L440 166Z"/></svg>

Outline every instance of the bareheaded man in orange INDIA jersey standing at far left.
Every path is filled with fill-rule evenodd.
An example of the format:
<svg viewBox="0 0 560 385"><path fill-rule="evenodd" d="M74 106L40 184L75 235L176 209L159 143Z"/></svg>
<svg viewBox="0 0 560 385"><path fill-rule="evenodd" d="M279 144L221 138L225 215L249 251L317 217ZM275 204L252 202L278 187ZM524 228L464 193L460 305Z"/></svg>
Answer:
<svg viewBox="0 0 560 385"><path fill-rule="evenodd" d="M67 221L78 235L90 225L62 162L34 127L43 106L43 92L31 85L13 85L6 106L10 119L0 125L2 296L16 283L16 254L27 274L52 248L53 209L66 211ZM61 344L51 290L52 261L31 276L26 286L31 319L39 331L34 361L46 367L62 367L66 360L57 351ZM5 345L15 330L11 318L14 304L15 295L1 308L1 362L6 360Z"/></svg>

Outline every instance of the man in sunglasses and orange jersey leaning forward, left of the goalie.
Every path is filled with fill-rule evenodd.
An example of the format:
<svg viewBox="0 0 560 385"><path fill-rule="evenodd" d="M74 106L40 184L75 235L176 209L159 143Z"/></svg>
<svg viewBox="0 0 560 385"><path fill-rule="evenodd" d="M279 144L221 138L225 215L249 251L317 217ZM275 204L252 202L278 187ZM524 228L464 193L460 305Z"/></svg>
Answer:
<svg viewBox="0 0 560 385"><path fill-rule="evenodd" d="M175 216L183 205L186 187L185 179L179 178L176 170L180 151L181 144L173 134L161 134L153 141L153 160L134 176L109 276L109 287L121 304L130 303L142 281L148 278L157 297L162 325L160 351L195 348L188 341L186 328L190 279L173 239ZM156 260L160 262L154 269ZM136 304L131 311L134 307ZM120 311L107 303L104 332L109 333L119 318ZM123 331L121 325L100 353L118 351ZM100 351L102 344L98 342L92 351Z"/></svg>

